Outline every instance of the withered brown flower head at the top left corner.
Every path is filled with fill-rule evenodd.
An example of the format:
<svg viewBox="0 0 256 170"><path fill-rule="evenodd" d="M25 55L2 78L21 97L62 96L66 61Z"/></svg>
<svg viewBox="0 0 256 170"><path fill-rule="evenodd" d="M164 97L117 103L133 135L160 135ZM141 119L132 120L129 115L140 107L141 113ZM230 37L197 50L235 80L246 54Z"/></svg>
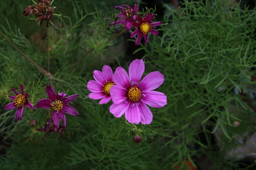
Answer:
<svg viewBox="0 0 256 170"><path fill-rule="evenodd" d="M40 26L42 26L43 20L47 20L47 27L49 27L49 20L52 17L53 9L55 6L50 7L51 1L49 0L38 0L35 6L27 6L23 10L23 16L34 14L40 20Z"/></svg>

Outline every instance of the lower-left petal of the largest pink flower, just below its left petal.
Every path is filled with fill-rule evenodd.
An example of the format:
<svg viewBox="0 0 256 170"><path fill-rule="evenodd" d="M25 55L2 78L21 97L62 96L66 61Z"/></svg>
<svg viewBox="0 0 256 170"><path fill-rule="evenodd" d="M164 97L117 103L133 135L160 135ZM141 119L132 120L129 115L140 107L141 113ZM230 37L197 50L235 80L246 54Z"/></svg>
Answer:
<svg viewBox="0 0 256 170"><path fill-rule="evenodd" d="M110 113L112 113L115 117L121 117L125 111L128 109L131 101L126 99L122 103L117 104L112 104L109 108Z"/></svg>

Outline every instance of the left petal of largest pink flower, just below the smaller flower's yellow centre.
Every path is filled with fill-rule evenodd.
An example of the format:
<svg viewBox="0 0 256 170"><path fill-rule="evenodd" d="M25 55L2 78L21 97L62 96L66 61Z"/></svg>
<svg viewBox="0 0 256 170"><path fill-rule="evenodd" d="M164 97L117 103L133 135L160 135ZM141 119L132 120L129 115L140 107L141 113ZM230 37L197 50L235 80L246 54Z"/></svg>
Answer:
<svg viewBox="0 0 256 170"><path fill-rule="evenodd" d="M110 95L114 104L119 104L127 99L127 90L122 86L113 85L110 88Z"/></svg>

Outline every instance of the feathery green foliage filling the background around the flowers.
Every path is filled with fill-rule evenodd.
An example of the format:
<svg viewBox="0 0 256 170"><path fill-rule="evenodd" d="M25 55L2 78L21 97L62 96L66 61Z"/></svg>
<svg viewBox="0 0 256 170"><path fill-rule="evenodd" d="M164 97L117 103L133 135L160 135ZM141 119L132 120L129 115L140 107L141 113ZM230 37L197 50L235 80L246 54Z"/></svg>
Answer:
<svg viewBox="0 0 256 170"><path fill-rule="evenodd" d="M250 82L255 71L250 69L255 68L256 62L256 11L241 10L218 0L206 0L205 4L184 0L185 7L180 11L163 3L168 14L161 21L163 25L157 27L162 35L151 36L147 45L142 42L133 55L143 51L139 56L145 59L143 76L151 71L164 75L165 82L157 90L166 94L168 104L160 109L150 108L151 125L135 126L127 123L124 116L115 118L109 112L111 104L99 105L99 101L87 97L87 82L93 79L94 70L101 70L103 65L111 65L114 70L119 66L116 59L127 69L132 61L125 49L135 39L119 36L107 41L119 32L119 27L109 27L108 23L119 14L113 6L121 4L134 3L55 0L52 4L57 7L55 13L62 14L51 19L55 25L50 34L52 82L55 91L64 91L68 96L80 94L72 103L79 116L66 115L64 139L52 134L43 144L44 133L34 131L44 126L45 109L25 109L23 120L18 122L13 121L14 110L4 110L10 102L8 95L13 95L12 87L18 90L23 83L35 106L39 99L47 97L45 86L49 80L0 38L0 134L6 149L0 169L169 170L186 158L195 165L201 156L207 156L213 170L239 169L239 163L224 157L225 149L235 146L234 134L255 131L255 112L233 90L242 89L249 95L246 89L255 87L255 82ZM29 5L32 2L26 0L1 3L0 30L24 54L47 69L47 52L42 50L47 42L43 34L46 23L39 27L37 21L20 17ZM36 37L38 33L42 34ZM68 73L90 49L93 52ZM32 119L38 121L36 127L29 125ZM232 124L235 120L241 122L239 130ZM141 144L132 142L134 129L143 136ZM224 150L212 143L212 132L217 129L223 132ZM201 141L200 134L206 136L206 142Z"/></svg>

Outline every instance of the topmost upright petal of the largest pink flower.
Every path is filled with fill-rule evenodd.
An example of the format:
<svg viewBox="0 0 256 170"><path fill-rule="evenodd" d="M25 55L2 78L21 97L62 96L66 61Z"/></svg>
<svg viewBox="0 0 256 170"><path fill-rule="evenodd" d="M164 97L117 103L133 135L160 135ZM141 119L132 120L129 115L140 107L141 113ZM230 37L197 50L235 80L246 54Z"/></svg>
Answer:
<svg viewBox="0 0 256 170"><path fill-rule="evenodd" d="M145 71L145 64L142 59L135 59L129 65L129 76L131 79L131 85L137 86L140 82L140 79Z"/></svg>

